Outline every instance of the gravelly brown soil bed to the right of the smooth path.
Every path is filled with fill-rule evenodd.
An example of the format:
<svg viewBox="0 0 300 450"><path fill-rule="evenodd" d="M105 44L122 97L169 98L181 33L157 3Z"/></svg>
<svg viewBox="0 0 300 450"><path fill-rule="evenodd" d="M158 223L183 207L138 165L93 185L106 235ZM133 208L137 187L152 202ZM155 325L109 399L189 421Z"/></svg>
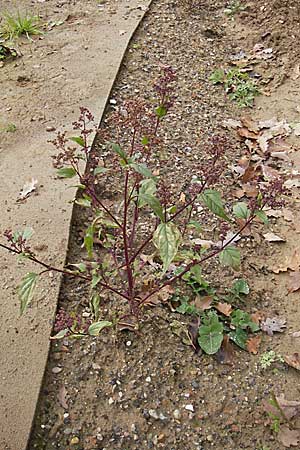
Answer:
<svg viewBox="0 0 300 450"><path fill-rule="evenodd" d="M205 152L204 139L196 141L196 133L201 130L201 135L207 136L224 132L224 119L244 114L221 88L208 82L209 75L229 65L234 55L251 54L263 39L269 39L263 42L264 48L272 42L274 45L272 56L252 69L259 75L265 95L256 100L256 108L250 113L260 119L299 122L300 86L295 76L298 53L293 44L299 43L297 2L280 2L280 8L276 0L262 2L259 8L257 2L249 3L248 10L231 19L224 14L224 1L154 1L129 48L112 94L117 105L136 95L151 96L159 62L177 70L176 101L165 128L163 158L165 168L172 171L172 182L178 186L194 167L195 159L201 159ZM263 38L267 32L270 35ZM278 40L276 36L280 35L283 38ZM245 154L245 144L235 131L226 133L233 147L228 159L234 164ZM291 144L298 149L299 137L294 136ZM291 155L294 170L299 170L298 153ZM278 170L287 170L284 162L271 163ZM228 181L226 195L232 196L236 178L229 174ZM55 344L29 449L285 448L268 426L262 401L272 393L299 400L299 372L281 363L263 370L260 358L271 349L282 355L299 351L299 337L294 337L299 331L299 292L287 294L288 274L275 275L272 271L299 247L297 189L289 194L288 208L292 220L271 219L268 230L282 235L286 243L267 244L261 231L255 238L244 239L238 274L251 288L244 307L249 312L284 317L284 333L263 335L258 355L237 350L233 365L220 365L214 358L200 357L183 345L172 333L170 322L186 323L189 319L161 307L148 312L140 335L128 331L103 333L94 340ZM81 236L86 220L76 209L69 261L84 257ZM211 227L207 220L205 230L209 232ZM236 276L215 266L206 268L205 274L221 291ZM86 312L86 295L84 285L65 280L60 305L69 311ZM109 310L106 314L109 316ZM57 367L62 370L57 371ZM193 410L186 409L187 405Z"/></svg>

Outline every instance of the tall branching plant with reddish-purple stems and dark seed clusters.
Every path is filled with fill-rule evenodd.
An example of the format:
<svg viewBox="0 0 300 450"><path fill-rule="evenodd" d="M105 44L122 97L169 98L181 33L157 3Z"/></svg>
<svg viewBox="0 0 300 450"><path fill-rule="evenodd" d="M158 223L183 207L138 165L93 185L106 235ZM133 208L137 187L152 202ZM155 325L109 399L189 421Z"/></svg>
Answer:
<svg viewBox="0 0 300 450"><path fill-rule="evenodd" d="M276 197L282 184L274 181L248 205L238 202L224 206L221 194L213 189L221 181L225 168L228 146L221 136L213 136L208 142L205 160L191 172L191 182L185 191L171 192L170 175L160 173L158 150L159 129L172 107L175 81L174 71L164 67L154 85L155 107L153 101L130 100L112 114L108 130L113 130L113 134L106 128L99 131L102 146L99 152L88 145L94 118L85 108L81 108L79 120L73 124L77 135L67 138L66 133L58 133L53 141L57 148L54 164L58 176L78 179L80 195L75 202L92 213L93 220L83 239L87 254L84 261L66 268L53 267L41 261L30 248L30 230L5 232L8 243L0 243L1 248L42 268L39 273L26 274L19 286L21 314L32 300L37 280L50 271L80 278L90 285L93 320L83 322L60 311L54 338L95 336L103 328L113 326L116 322L100 319L100 296L104 292L119 298L121 304L128 304L128 314L117 319L119 324L128 315L138 323L147 305L154 299L168 297L171 285L178 284L191 272L198 273L212 258L218 257L222 265L238 270L237 237L255 219L267 222L264 207L278 204ZM87 165L86 169L82 163ZM111 179L112 189L116 190L113 201L103 196ZM193 243L194 234L199 236L201 228L195 220L197 202L202 202L220 223L219 241L210 248ZM156 254L149 256L154 250ZM152 264L147 264L147 258L148 261L152 258ZM208 333L206 342L217 328L217 345L205 346L207 353L215 353L222 341L218 317L209 313L203 319L200 345L204 328Z"/></svg>

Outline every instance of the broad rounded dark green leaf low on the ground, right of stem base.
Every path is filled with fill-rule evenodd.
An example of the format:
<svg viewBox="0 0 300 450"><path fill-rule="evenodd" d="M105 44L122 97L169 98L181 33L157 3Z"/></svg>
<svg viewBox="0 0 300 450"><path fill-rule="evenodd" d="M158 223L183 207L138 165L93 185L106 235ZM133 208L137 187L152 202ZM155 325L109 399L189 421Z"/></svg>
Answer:
<svg viewBox="0 0 300 450"><path fill-rule="evenodd" d="M217 353L223 341L223 324L215 312L207 314L199 327L198 343L205 353Z"/></svg>

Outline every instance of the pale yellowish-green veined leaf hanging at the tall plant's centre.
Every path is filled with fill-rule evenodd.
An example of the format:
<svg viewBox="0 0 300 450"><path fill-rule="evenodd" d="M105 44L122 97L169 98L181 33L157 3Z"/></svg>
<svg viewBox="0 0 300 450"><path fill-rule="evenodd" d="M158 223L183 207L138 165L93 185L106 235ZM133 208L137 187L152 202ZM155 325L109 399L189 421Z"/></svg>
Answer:
<svg viewBox="0 0 300 450"><path fill-rule="evenodd" d="M161 223L158 225L153 236L153 243L159 251L163 262L163 273L165 273L176 256L181 240L181 234L175 224Z"/></svg>

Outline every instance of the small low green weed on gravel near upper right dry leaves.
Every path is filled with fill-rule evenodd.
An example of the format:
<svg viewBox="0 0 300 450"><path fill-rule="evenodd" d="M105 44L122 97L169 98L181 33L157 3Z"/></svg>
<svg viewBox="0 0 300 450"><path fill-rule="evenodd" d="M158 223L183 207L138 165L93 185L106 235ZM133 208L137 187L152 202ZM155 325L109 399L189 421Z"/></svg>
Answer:
<svg viewBox="0 0 300 450"><path fill-rule="evenodd" d="M241 108L252 107L254 98L259 95L255 81L247 72L232 68L215 70L209 80L213 84L223 84L230 100L237 102Z"/></svg>

